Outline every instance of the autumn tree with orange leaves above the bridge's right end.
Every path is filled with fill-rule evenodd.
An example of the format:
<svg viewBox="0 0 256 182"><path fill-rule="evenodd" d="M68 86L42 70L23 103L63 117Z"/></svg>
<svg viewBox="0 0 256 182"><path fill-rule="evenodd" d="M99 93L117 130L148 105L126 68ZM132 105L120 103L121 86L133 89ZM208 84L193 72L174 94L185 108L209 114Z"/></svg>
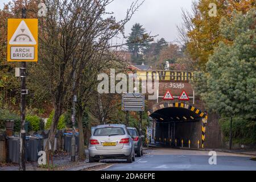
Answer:
<svg viewBox="0 0 256 182"><path fill-rule="evenodd" d="M217 6L216 16L209 16L210 3ZM254 0L201 0L193 2L192 14L183 11L184 22L183 26L179 27L180 37L185 41L188 55L201 69L205 68L214 47L224 39L220 35L220 20L225 17L231 21L233 10L246 14L252 7L255 7Z"/></svg>

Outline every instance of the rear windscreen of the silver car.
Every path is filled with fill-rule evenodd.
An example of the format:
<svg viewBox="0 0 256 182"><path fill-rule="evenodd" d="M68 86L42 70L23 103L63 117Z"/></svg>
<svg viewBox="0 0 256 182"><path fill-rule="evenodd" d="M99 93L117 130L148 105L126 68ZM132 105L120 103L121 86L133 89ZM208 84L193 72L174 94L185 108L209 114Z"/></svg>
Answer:
<svg viewBox="0 0 256 182"><path fill-rule="evenodd" d="M125 135L121 127L102 127L94 131L94 136Z"/></svg>

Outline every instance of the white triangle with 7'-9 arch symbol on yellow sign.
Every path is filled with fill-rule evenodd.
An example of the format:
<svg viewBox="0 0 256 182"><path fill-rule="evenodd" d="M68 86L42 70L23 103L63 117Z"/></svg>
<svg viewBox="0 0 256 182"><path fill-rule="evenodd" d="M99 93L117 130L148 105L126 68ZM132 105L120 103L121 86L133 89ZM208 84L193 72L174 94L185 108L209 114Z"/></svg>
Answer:
<svg viewBox="0 0 256 182"><path fill-rule="evenodd" d="M27 27L26 22L22 20L9 41L10 45L35 45L36 41Z"/></svg>

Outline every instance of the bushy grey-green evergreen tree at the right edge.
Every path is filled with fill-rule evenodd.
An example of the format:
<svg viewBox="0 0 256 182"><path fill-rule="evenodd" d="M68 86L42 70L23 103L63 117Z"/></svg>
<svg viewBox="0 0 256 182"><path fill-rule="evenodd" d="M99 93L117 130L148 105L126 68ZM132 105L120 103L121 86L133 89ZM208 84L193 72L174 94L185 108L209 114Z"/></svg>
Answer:
<svg viewBox="0 0 256 182"><path fill-rule="evenodd" d="M236 118L247 122L243 130L256 130L256 52L254 11L233 14L232 22L223 19L220 26L223 42L214 49L206 64L206 73L195 75L194 86L201 98L221 119ZM225 126L225 123L224 123ZM241 137L241 136L240 136Z"/></svg>

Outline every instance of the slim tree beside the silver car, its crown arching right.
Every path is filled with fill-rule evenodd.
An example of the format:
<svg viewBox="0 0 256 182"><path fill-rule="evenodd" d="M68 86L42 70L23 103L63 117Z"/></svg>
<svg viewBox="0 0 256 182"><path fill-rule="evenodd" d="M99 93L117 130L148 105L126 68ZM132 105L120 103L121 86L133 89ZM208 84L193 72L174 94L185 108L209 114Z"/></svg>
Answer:
<svg viewBox="0 0 256 182"><path fill-rule="evenodd" d="M79 158L85 158L84 151L84 133L82 126L82 116L89 100L97 97L97 76L101 72L105 72L108 68L117 68L118 59L110 49L101 49L94 52L93 56L87 61L86 67L81 74L77 90L77 122L79 127ZM120 64L123 66L123 64ZM98 100L95 100L97 102Z"/></svg>

